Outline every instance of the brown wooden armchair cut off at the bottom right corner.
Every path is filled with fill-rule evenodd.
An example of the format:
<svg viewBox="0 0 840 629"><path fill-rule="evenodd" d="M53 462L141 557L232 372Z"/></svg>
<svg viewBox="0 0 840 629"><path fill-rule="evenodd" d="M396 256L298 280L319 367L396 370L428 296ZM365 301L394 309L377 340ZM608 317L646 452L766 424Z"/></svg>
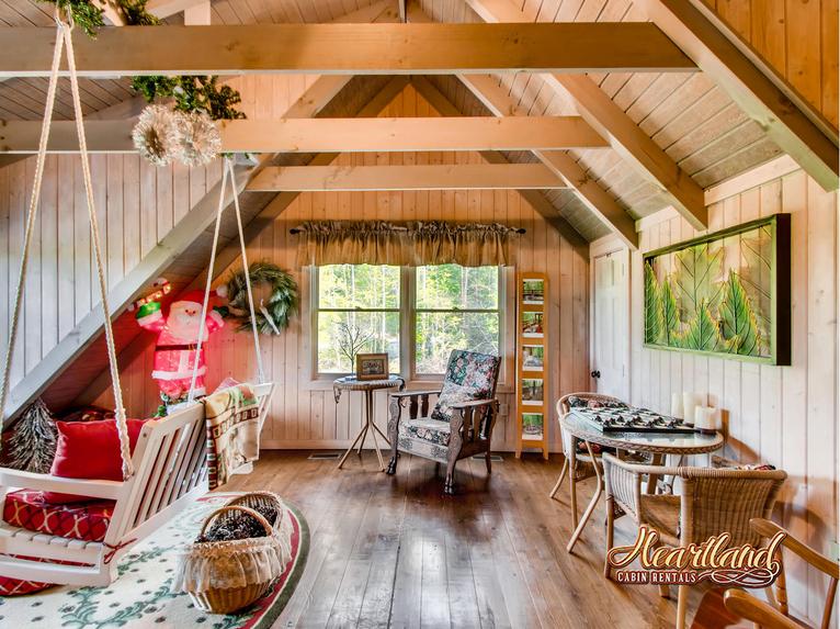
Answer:
<svg viewBox="0 0 840 629"><path fill-rule="evenodd" d="M840 573L840 563L820 554L813 548L805 546L798 539L777 524L764 518L754 518L750 520L750 526L761 537L770 539L777 532L784 532L782 546L791 552L797 554L809 565L813 565L820 572L828 575L828 591L826 592L826 605L822 608L822 621L820 629L828 629L831 626L831 611L835 607L835 597L837 596L838 573ZM759 600L742 589L727 589L724 594L726 608L746 618L752 620L756 626L768 627L769 629L802 629L803 625L790 616L787 609L787 589L785 586L784 562L782 562L782 572L775 580L775 605Z"/></svg>

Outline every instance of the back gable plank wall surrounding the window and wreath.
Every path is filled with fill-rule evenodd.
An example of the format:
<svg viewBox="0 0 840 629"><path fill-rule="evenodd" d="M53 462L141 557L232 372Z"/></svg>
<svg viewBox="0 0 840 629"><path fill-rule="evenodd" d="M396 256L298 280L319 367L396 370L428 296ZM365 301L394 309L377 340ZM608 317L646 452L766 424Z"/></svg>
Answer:
<svg viewBox="0 0 840 629"><path fill-rule="evenodd" d="M409 87L382 113L387 116L436 115L429 104ZM467 164L480 162L477 154L348 154L338 159L340 165L389 164ZM549 400L560 394L588 386L589 372L589 262L576 254L515 191L469 192L319 192L306 193L281 215L272 226L252 243L249 260L269 259L290 269L302 289L302 303L309 299L307 276L296 267L294 237L288 229L306 220L370 218L370 220L455 220L462 222L501 222L521 225L527 229L519 242L518 269L546 272L550 283L550 313L548 326L549 364L552 366ZM234 267L240 268L237 261ZM226 274L226 273L225 273ZM223 276L224 277L224 276ZM506 311L512 313L515 293L508 291ZM280 337L262 337L263 362L268 377L277 384L269 422L263 430L266 448L334 448L349 445L361 425L362 398L360 394L341 397L337 405L329 383L310 382L308 362L309 341L304 322L309 311L304 305L302 315ZM509 318L512 318L509 316ZM511 322L512 323L512 322ZM512 334L509 332L509 334ZM151 340L147 336L147 342ZM211 368L208 384L215 386L231 375L243 380L256 377L253 349L249 335L225 329L208 344ZM137 356L123 369L127 390L127 407L135 415L155 408L157 387L149 378L152 348ZM512 374L512 364L509 364ZM511 375L512 378L512 375ZM511 413L511 382L501 394L502 416L495 434L495 448L513 450L515 433ZM107 405L110 392L98 403ZM377 394L376 417L386 424L385 394ZM553 448L560 450L556 419L549 422Z"/></svg>

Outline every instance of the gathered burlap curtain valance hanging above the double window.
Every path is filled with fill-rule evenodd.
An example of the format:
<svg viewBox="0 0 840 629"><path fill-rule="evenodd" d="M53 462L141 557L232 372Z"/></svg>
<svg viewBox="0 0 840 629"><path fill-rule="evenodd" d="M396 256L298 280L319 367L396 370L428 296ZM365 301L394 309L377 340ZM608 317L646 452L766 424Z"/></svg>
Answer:
<svg viewBox="0 0 840 629"><path fill-rule="evenodd" d="M323 265L450 265L489 267L513 265L514 227L498 223L442 221L321 221L304 223L299 238L302 267Z"/></svg>

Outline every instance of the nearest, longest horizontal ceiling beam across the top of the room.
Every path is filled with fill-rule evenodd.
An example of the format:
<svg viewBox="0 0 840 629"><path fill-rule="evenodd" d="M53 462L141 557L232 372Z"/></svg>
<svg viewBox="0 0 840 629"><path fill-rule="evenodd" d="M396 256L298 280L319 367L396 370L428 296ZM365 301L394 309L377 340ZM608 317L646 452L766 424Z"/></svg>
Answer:
<svg viewBox="0 0 840 629"><path fill-rule="evenodd" d="M0 29L0 76L49 75L55 29ZM247 24L103 29L76 42L79 74L690 71L647 22Z"/></svg>

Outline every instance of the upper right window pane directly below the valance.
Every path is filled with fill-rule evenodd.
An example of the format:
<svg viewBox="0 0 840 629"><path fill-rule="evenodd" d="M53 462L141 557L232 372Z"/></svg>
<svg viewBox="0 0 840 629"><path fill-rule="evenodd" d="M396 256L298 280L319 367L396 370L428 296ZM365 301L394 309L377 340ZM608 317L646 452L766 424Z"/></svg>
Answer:
<svg viewBox="0 0 840 629"><path fill-rule="evenodd" d="M499 307L499 267L418 267L417 307L496 310Z"/></svg>

